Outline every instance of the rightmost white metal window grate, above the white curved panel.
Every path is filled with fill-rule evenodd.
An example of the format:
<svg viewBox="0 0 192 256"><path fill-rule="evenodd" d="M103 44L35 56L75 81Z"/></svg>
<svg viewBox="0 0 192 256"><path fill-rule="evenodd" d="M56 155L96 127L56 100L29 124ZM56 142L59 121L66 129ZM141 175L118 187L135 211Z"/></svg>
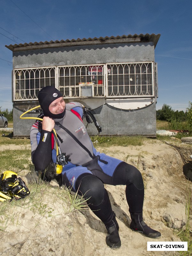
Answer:
<svg viewBox="0 0 192 256"><path fill-rule="evenodd" d="M107 97L153 96L153 65L150 63L108 64Z"/></svg>

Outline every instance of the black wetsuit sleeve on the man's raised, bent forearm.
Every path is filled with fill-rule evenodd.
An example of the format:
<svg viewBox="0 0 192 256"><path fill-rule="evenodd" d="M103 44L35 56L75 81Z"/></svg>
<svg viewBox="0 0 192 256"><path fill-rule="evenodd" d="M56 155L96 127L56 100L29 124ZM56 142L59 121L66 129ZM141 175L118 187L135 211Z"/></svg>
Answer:
<svg viewBox="0 0 192 256"><path fill-rule="evenodd" d="M32 162L38 171L44 171L52 159L51 134L42 130L39 144L31 153Z"/></svg>

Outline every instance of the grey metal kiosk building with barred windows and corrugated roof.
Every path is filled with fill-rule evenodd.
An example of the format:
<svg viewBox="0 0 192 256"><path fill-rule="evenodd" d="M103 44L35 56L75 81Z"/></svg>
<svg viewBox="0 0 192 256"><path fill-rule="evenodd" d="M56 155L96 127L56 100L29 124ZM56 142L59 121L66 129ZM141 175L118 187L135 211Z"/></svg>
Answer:
<svg viewBox="0 0 192 256"><path fill-rule="evenodd" d="M59 89L66 102L91 108L102 127L100 135L156 137L159 37L135 34L5 45L13 52L14 137L29 136L35 120L21 120L20 115L38 105L39 90L49 85ZM87 130L98 134L94 124L87 124Z"/></svg>

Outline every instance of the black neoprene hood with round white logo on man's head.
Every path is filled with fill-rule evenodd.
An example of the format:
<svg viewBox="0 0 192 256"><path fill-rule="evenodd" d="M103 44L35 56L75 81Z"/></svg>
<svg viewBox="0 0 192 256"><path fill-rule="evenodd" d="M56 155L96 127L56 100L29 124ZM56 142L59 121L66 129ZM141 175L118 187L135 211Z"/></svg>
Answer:
<svg viewBox="0 0 192 256"><path fill-rule="evenodd" d="M60 97L63 97L62 93L53 86L45 86L39 91L38 100L41 108L43 109L44 116L62 118L65 115L65 110L63 113L58 115L54 115L49 111L50 104Z"/></svg>

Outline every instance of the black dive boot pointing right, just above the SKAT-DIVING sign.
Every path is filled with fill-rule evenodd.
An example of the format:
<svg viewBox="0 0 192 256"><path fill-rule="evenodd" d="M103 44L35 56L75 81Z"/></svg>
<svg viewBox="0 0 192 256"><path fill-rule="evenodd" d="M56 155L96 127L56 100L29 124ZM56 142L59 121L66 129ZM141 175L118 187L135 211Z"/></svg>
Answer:
<svg viewBox="0 0 192 256"><path fill-rule="evenodd" d="M131 214L131 224L130 228L133 231L143 233L143 235L150 238L158 238L161 236L161 233L148 227L147 224L143 221L142 212L141 213L130 213Z"/></svg>

